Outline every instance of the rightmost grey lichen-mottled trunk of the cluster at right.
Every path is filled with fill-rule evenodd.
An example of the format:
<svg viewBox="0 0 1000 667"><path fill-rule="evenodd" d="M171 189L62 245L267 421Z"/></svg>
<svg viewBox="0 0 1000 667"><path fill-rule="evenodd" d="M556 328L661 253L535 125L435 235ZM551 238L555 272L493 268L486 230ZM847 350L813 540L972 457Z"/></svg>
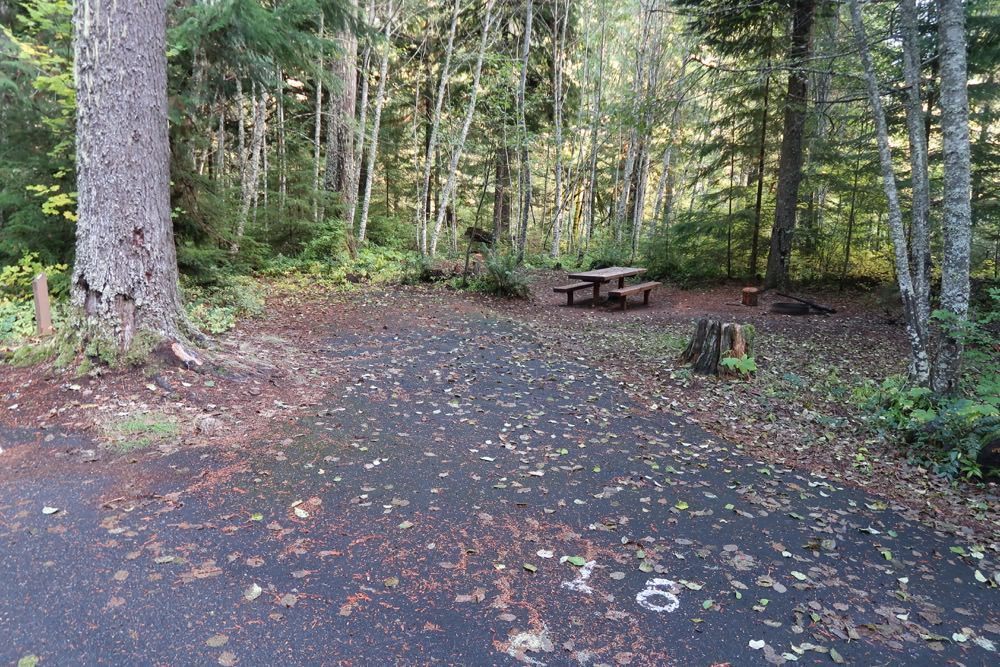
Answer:
<svg viewBox="0 0 1000 667"><path fill-rule="evenodd" d="M968 65L965 2L938 0L941 63L941 151L944 154L944 205L941 228L941 309L948 322L932 375L937 392L958 386L962 341L956 335L969 312L969 251L972 237L972 179L969 146Z"/></svg>

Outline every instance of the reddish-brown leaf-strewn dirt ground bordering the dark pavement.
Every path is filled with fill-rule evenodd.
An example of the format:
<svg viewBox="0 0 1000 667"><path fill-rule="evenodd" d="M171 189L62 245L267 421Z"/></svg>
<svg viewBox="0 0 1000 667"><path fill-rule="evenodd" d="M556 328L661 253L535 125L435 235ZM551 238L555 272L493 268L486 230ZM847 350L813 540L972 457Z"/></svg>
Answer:
<svg viewBox="0 0 1000 667"><path fill-rule="evenodd" d="M595 305L578 298L566 307L565 295L551 289L565 280L561 271L534 272L527 300L441 285L363 284L329 292L275 287L267 316L242 321L220 337L201 368L160 363L75 377L48 366L0 367L0 421L114 441L127 434L109 423L152 413L177 427L175 434L153 438L156 451L185 444L240 448L248 434L293 421L319 404L338 372L323 361L337 346L324 338L330 328L364 335L391 327L404 314L432 323L459 313L494 313L526 324L553 354L601 368L637 398L683 414L749 454L877 490L939 528L1000 542L1000 484L956 486L909 465L897 444L875 436L851 405L854 386L905 370L902 327L872 294L796 292L837 312L793 317L769 311L771 303L789 300L774 293L761 295L757 307L741 305L737 283L664 285L649 306L633 297L622 312L603 298ZM361 301L363 317L343 307ZM756 327L756 380L691 376L675 362L678 346L701 317ZM314 383L324 364L326 379ZM148 452L128 454L133 460L143 455ZM96 456L107 458L101 450Z"/></svg>

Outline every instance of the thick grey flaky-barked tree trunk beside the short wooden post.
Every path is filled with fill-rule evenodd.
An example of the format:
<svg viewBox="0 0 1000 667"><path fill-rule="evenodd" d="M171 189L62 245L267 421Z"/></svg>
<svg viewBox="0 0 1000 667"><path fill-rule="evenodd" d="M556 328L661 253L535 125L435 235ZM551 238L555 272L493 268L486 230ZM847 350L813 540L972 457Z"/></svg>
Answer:
<svg viewBox="0 0 1000 667"><path fill-rule="evenodd" d="M125 350L184 323L170 221L166 0L78 0L76 263L91 335Z"/></svg>

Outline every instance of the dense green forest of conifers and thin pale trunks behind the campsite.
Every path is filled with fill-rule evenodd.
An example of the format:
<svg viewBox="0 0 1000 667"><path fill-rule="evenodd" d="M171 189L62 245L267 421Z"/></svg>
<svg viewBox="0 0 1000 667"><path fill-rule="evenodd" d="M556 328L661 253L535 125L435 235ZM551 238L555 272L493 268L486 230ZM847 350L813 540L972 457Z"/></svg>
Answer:
<svg viewBox="0 0 1000 667"><path fill-rule="evenodd" d="M939 10L909 5L937 258ZM863 7L897 148L906 7ZM174 234L190 314L209 331L256 307L239 276L420 270L461 256L471 227L492 233L511 264L641 263L685 284L895 282L876 123L844 3L168 8ZM965 11L971 273L995 281L1000 19L988 0ZM11 297L0 336L30 330L14 298L30 277L48 268L58 299L74 260L72 14L69 0L0 0L0 289ZM893 159L909 220L910 163L905 150ZM940 274L937 260L930 271Z"/></svg>

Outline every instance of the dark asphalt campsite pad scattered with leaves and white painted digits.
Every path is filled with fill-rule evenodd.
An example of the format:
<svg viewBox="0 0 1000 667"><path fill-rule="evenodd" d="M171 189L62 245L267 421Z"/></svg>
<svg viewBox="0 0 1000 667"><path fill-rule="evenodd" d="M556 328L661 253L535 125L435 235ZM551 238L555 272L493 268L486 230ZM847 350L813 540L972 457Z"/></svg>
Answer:
<svg viewBox="0 0 1000 667"><path fill-rule="evenodd" d="M249 456L136 464L160 472L147 497L102 505L115 481L72 457L75 474L0 480L0 661L998 657L1000 594L976 574L995 553L730 451L519 326L463 316L328 349L351 380L314 416ZM31 446L79 449L50 444Z"/></svg>

